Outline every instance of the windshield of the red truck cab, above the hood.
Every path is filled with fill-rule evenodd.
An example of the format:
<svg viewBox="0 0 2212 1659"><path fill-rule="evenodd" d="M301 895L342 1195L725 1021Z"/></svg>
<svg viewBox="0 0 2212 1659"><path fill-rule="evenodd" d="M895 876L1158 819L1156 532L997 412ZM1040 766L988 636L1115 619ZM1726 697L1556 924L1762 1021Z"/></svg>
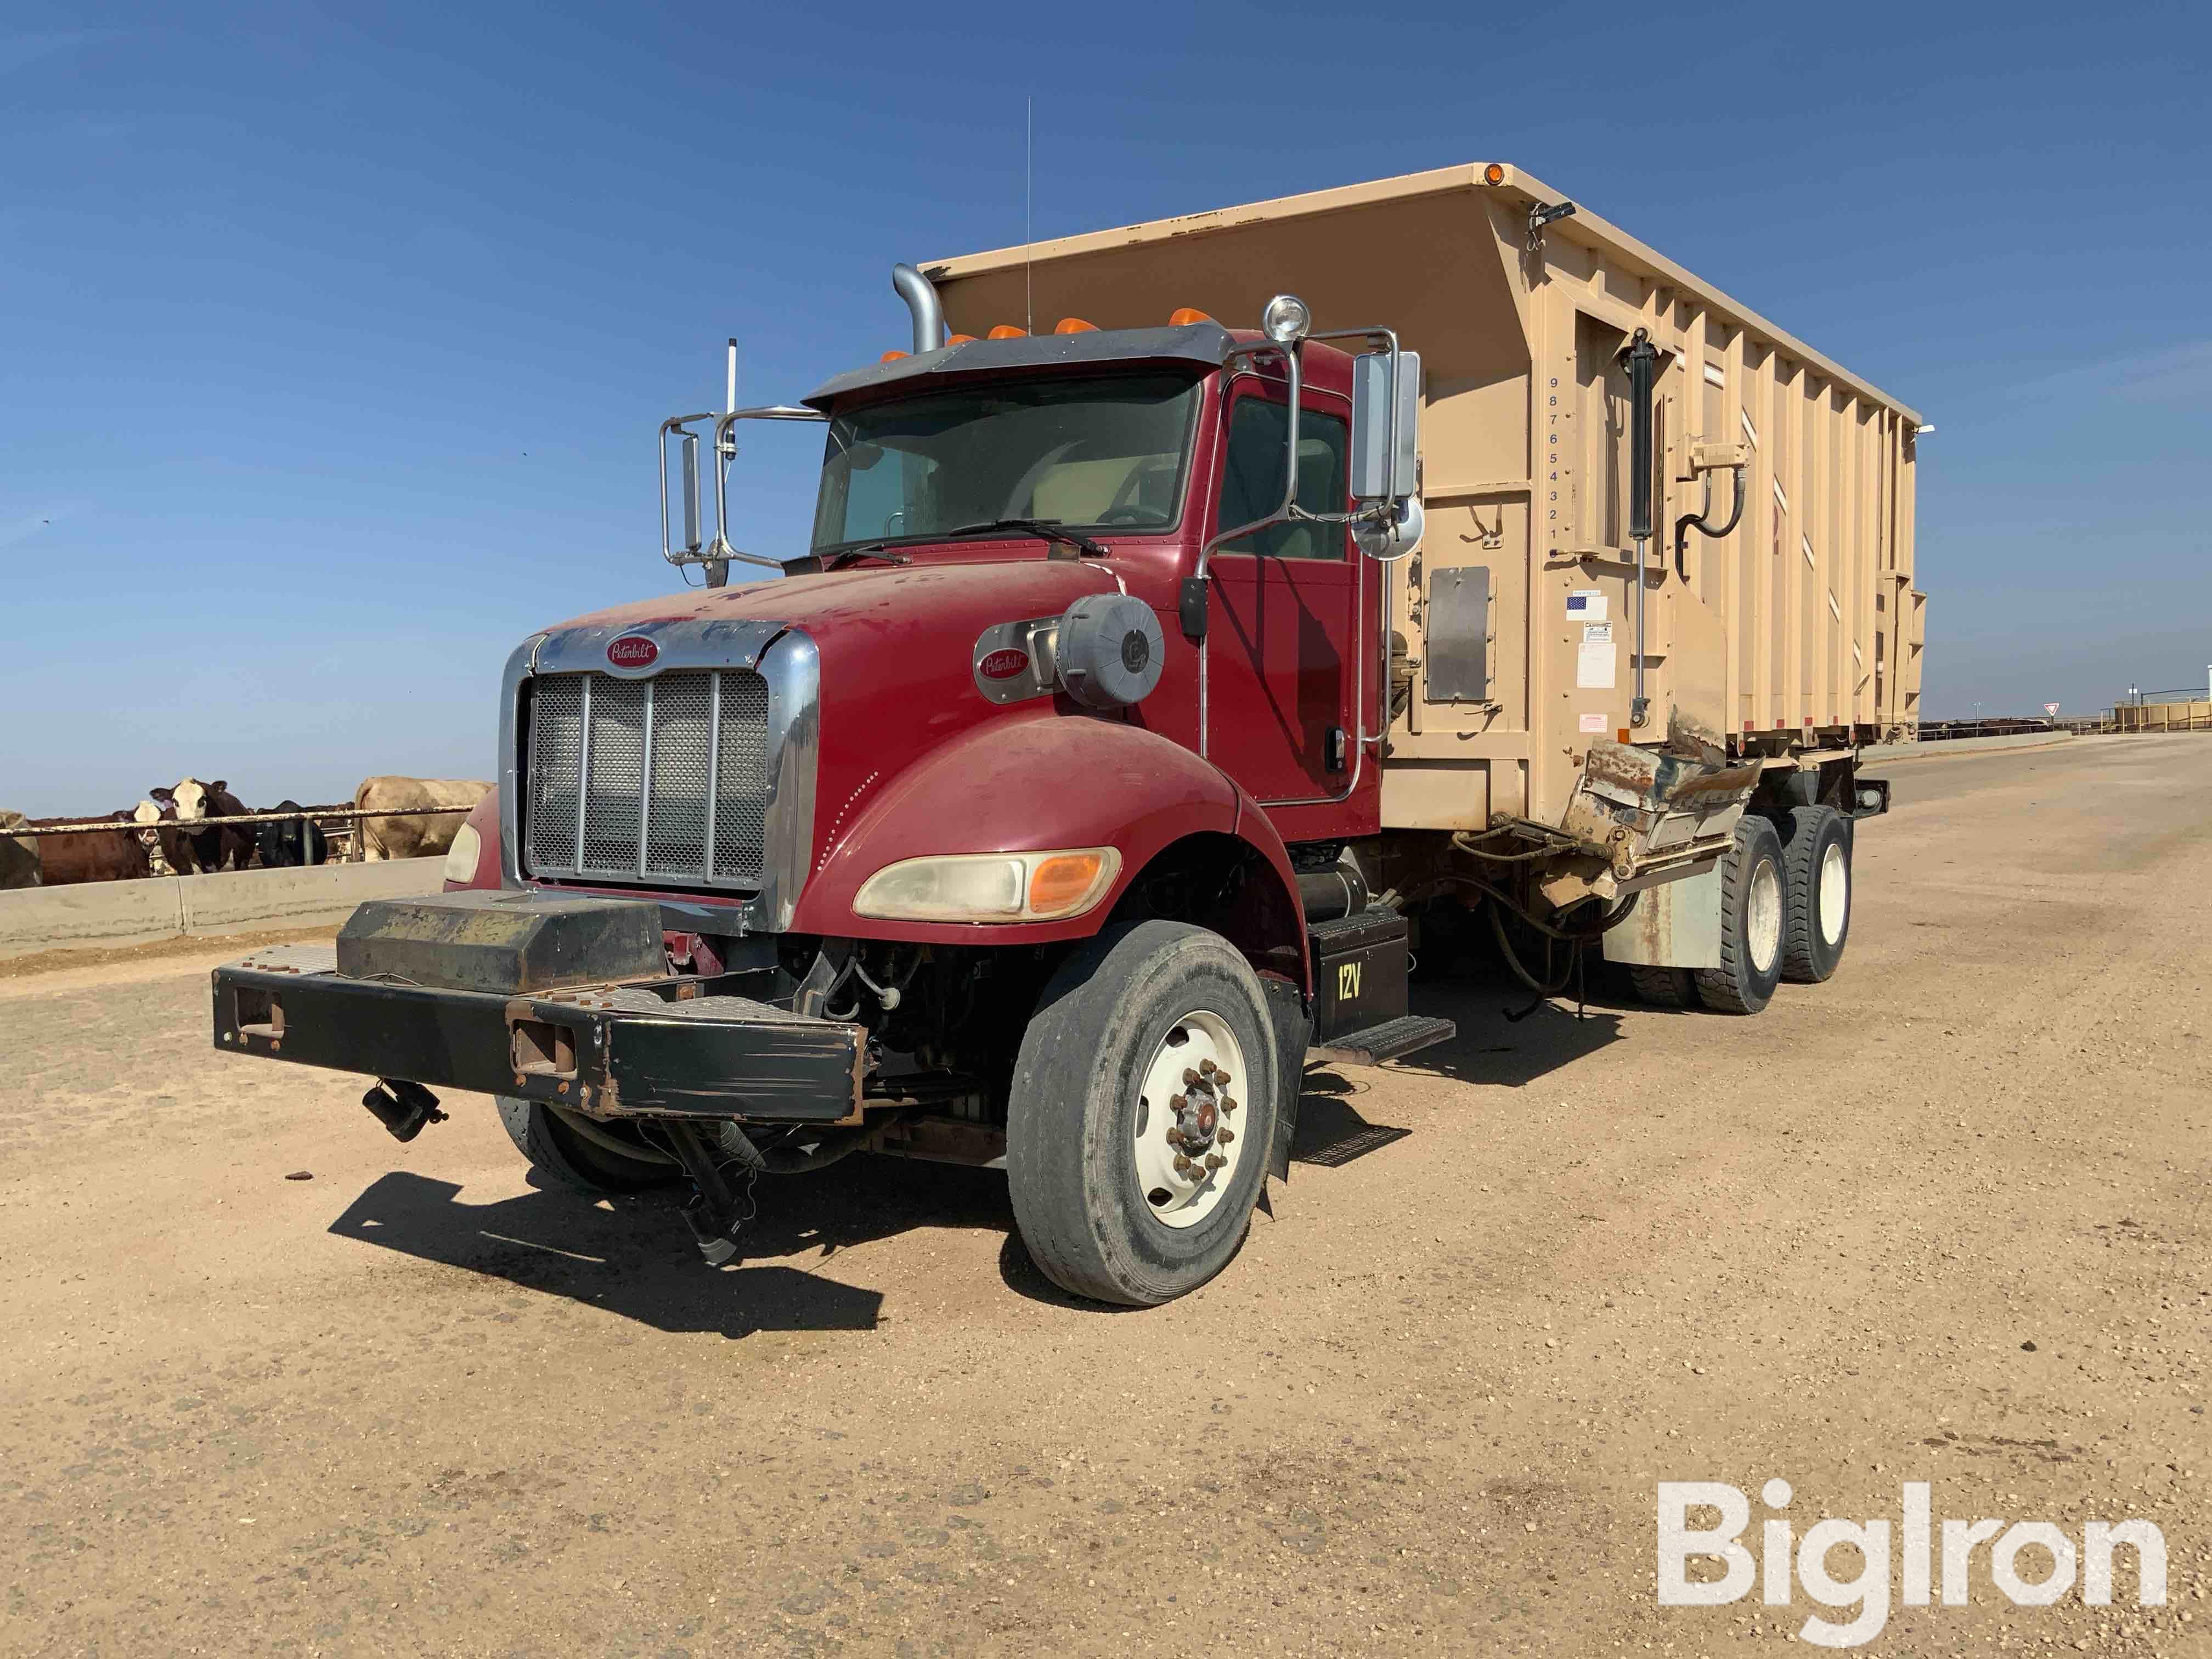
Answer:
<svg viewBox="0 0 2212 1659"><path fill-rule="evenodd" d="M1121 374L933 392L838 416L814 551L925 542L1011 518L1172 529L1197 400L1188 376Z"/></svg>

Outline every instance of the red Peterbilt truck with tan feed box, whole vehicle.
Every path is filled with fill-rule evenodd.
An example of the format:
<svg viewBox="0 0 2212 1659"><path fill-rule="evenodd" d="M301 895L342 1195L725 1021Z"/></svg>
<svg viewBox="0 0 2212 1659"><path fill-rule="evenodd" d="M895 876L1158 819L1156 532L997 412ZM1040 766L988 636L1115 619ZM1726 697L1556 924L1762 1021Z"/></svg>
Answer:
<svg viewBox="0 0 2212 1659"><path fill-rule="evenodd" d="M493 1095L549 1179L688 1181L710 1263L752 1175L1000 1166L1053 1281L1146 1305L1307 1064L1453 1035L1425 933L1537 998L1836 971L1913 411L1504 164L894 288L911 349L664 422L706 586L524 639L449 891L219 969L217 1046L400 1139ZM730 540L757 418L825 425L805 551Z"/></svg>

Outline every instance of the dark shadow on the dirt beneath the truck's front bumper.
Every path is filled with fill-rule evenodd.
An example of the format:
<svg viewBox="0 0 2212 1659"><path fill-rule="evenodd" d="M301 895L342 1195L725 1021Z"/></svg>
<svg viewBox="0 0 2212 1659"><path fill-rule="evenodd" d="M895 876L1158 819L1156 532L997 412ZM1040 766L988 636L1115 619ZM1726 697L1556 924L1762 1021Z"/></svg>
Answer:
<svg viewBox="0 0 2212 1659"><path fill-rule="evenodd" d="M754 1199L759 1212L739 1234L739 1265L721 1270L699 1261L668 1194L595 1203L538 1188L498 1203L465 1203L449 1181L394 1170L354 1199L330 1232L566 1296L653 1329L739 1338L874 1329L883 1296L821 1272L847 1245L916 1228L1013 1228L1002 1175L945 1164L854 1157L821 1175L761 1181Z"/></svg>

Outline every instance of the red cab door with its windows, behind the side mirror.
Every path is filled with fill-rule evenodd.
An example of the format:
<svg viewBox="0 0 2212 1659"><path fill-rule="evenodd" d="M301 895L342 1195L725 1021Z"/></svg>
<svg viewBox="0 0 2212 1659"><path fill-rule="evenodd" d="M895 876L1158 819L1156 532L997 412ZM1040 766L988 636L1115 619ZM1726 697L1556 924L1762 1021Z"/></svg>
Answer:
<svg viewBox="0 0 2212 1659"><path fill-rule="evenodd" d="M1217 447L1210 535L1283 502L1290 411L1279 385L1243 383ZM1298 504L1349 504L1352 407L1307 392L1298 409ZM1261 805L1345 792L1354 708L1360 562L1343 524L1272 524L1214 549L1208 617L1206 752Z"/></svg>

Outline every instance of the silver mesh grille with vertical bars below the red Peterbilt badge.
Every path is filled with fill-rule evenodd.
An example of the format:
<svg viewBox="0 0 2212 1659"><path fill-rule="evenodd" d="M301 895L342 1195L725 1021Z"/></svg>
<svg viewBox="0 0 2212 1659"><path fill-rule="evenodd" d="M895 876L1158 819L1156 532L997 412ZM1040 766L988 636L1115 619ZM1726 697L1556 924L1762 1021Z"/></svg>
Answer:
<svg viewBox="0 0 2212 1659"><path fill-rule="evenodd" d="M531 874L759 885L768 681L757 672L542 675L522 759Z"/></svg>

